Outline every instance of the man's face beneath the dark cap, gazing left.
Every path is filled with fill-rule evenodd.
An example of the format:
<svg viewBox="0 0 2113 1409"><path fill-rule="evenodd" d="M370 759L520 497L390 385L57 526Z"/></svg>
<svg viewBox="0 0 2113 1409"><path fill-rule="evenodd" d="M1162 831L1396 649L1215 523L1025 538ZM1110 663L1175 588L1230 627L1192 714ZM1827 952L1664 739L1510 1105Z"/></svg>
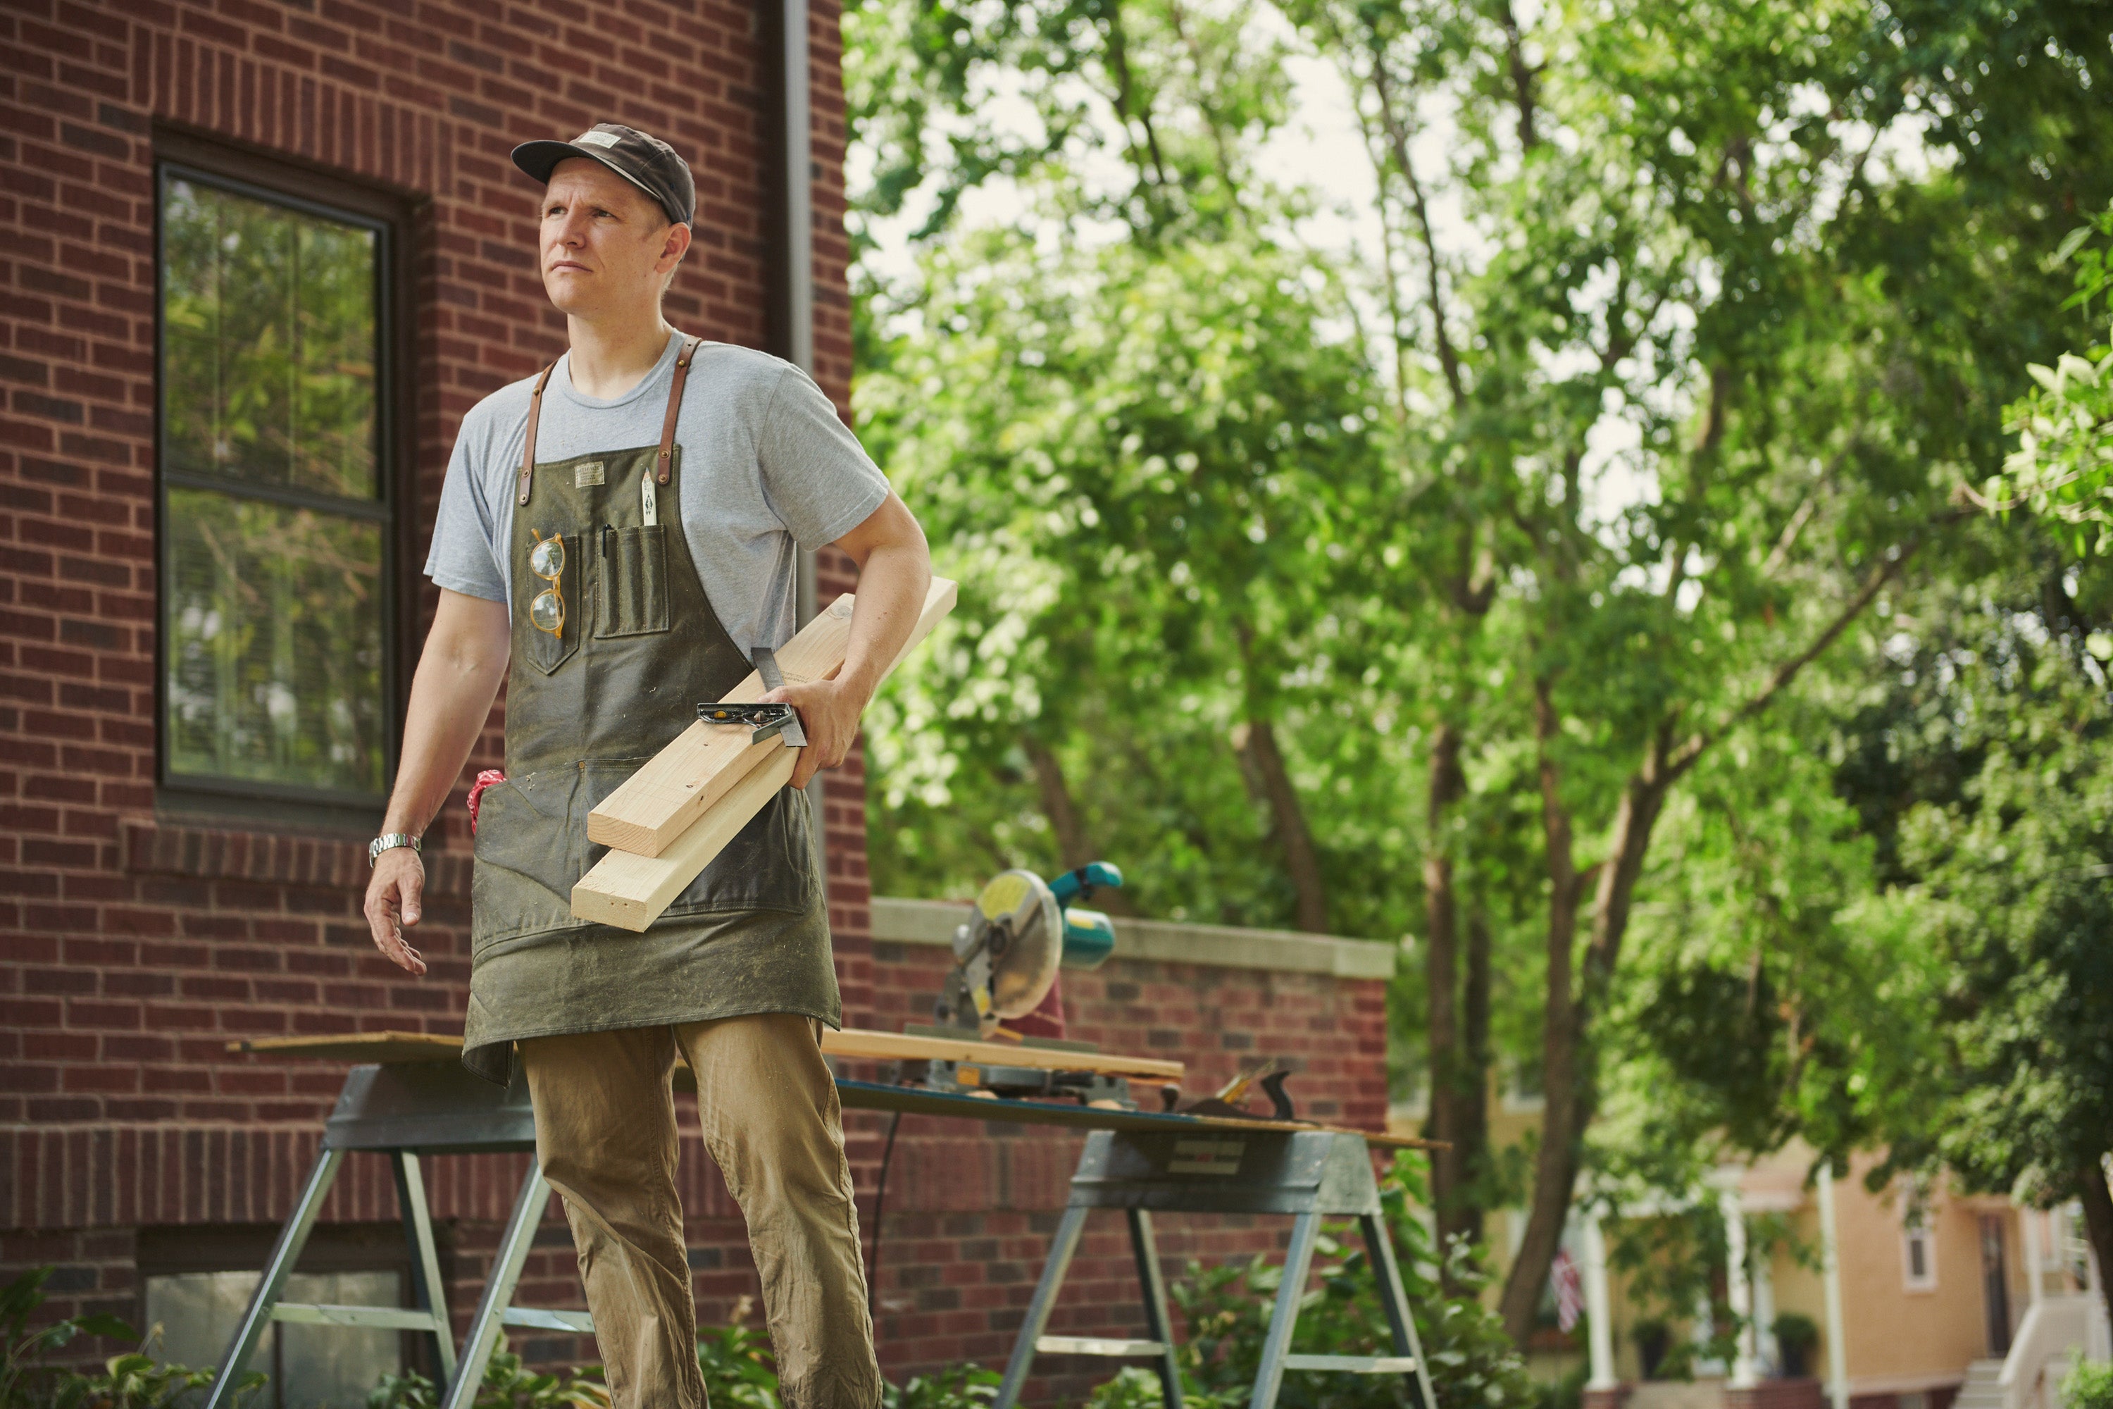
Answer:
<svg viewBox="0 0 2113 1409"><path fill-rule="evenodd" d="M596 317L657 306L689 228L598 161L568 156L543 192L543 292L560 313Z"/></svg>

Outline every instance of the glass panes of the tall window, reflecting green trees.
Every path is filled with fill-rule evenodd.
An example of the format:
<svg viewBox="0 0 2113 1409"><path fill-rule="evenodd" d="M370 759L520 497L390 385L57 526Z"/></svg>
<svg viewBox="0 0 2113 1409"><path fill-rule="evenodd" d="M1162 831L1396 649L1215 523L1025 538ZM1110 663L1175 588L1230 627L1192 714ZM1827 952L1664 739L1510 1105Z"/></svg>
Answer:
<svg viewBox="0 0 2113 1409"><path fill-rule="evenodd" d="M382 230L173 169L161 207L167 775L374 796Z"/></svg>

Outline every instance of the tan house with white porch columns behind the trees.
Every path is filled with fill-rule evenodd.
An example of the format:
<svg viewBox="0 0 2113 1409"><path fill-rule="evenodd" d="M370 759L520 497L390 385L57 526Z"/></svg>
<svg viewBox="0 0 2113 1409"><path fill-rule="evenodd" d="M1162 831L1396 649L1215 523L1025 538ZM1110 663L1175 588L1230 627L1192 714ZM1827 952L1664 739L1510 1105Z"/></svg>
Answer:
<svg viewBox="0 0 2113 1409"><path fill-rule="evenodd" d="M1420 1117L1416 1105L1392 1111L1397 1130ZM1534 1128L1536 1096L1517 1079L1492 1084L1492 1147ZM1817 1177L1813 1166L1815 1153L1792 1143L1752 1166L1716 1170L1684 1198L1581 1200L1564 1255L1578 1272L1583 1316L1559 1331L1549 1289L1547 1325L1528 1346L1536 1371L1585 1375L1587 1401L1602 1409L1762 1401L1769 1409L2043 1409L2058 1403L2054 1386L2075 1354L2113 1356L2100 1270L2075 1206L2033 1210L1944 1183L1921 1194L1904 1183L1872 1191L1864 1175L1874 1156L1862 1156L1847 1179ZM1747 1274L1703 1267L1709 1303L1667 1314L1661 1297L1640 1295L1638 1278L1621 1270L1619 1244L1654 1246L1650 1221L1697 1215L1724 1223L1724 1248L1733 1261L1743 1255ZM1523 1210L1490 1219L1498 1276L1523 1232ZM1726 1310L1750 1322L1747 1335L1731 1356L1699 1350ZM1800 1348L1777 1337L1779 1318L1802 1320L1815 1339Z"/></svg>

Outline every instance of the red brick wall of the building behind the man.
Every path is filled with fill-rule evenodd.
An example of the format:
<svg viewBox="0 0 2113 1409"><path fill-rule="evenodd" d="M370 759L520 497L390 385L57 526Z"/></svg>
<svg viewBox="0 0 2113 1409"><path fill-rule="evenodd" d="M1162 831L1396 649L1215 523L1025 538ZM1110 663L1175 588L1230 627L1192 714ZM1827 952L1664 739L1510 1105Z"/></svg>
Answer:
<svg viewBox="0 0 2113 1409"><path fill-rule="evenodd" d="M818 378L852 376L837 6L816 0ZM315 1153L342 1067L237 1058L262 1033L459 1031L467 995L461 790L431 832L414 982L359 919L363 837L154 811L156 125L296 161L414 203L410 564L423 562L463 412L562 349L535 277L524 137L615 116L699 177L697 247L670 294L685 330L769 336L771 51L735 4L564 0L11 0L0 6L0 1278L57 1263L53 1314L137 1314L142 1227L268 1225ZM849 587L824 562L822 600ZM427 608L431 602L427 602ZM499 756L501 716L471 767ZM864 773L826 782L828 894L852 1022L930 1012L940 951L875 959ZM1316 1113L1380 1126L1378 984L1114 963L1073 980L1080 1035L1196 1060L1312 1060ZM1253 1041L1253 1048L1242 1046ZM883 1122L847 1122L871 1213ZM890 1373L999 1360L1040 1267L1076 1141L906 1122L890 1187L881 1329ZM522 1158L435 1160L454 1310L467 1318ZM695 1139L685 1204L702 1314L754 1291L740 1210ZM330 1221L387 1221L378 1158L355 1156ZM1171 1261L1274 1246L1274 1227L1168 1219ZM1080 1261L1065 1325L1128 1305L1111 1229ZM579 1305L562 1221L522 1297ZM1126 1325L1114 1314L1105 1325ZM82 1354L108 1348L82 1346ZM530 1350L590 1358L554 1337ZM1065 1369L1065 1367L1056 1367ZM1107 1373L1111 1367L1092 1367ZM1052 1379L1050 1388L1078 1388Z"/></svg>

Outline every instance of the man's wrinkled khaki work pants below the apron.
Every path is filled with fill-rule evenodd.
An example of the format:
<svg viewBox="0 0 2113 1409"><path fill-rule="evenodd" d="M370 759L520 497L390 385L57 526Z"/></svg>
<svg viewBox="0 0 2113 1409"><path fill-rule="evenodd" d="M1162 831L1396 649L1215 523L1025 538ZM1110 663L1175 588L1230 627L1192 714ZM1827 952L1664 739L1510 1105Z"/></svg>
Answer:
<svg viewBox="0 0 2113 1409"><path fill-rule="evenodd" d="M877 1409L852 1168L811 1018L767 1012L520 1044L537 1158L564 1196L615 1409L704 1409L670 1075L748 1221L788 1409Z"/></svg>

